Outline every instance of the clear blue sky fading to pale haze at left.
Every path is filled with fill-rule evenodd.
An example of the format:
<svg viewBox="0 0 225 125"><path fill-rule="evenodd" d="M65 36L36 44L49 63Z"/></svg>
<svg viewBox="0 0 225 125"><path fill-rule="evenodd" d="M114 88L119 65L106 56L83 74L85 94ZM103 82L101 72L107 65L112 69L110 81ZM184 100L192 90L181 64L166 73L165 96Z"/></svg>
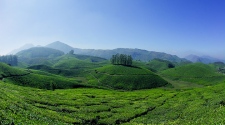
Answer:
<svg viewBox="0 0 225 125"><path fill-rule="evenodd" d="M0 55L54 41L225 59L225 0L0 0Z"/></svg>

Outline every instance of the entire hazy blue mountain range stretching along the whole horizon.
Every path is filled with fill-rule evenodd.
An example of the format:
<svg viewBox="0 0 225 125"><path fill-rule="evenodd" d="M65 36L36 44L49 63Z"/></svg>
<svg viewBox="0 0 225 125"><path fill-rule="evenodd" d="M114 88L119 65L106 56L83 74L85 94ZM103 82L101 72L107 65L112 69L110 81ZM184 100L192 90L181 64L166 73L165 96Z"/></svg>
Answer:
<svg viewBox="0 0 225 125"><path fill-rule="evenodd" d="M32 44L26 44L19 49L13 50L10 54L16 54L22 50L26 50L29 48L35 47ZM103 49L80 49L74 48L70 45L67 45L63 42L56 41L50 43L44 47L60 50L64 53L69 53L71 50L74 51L74 54L80 55L89 55L89 56L97 56L105 59L110 59L112 55L117 53L131 55L134 60L140 60L144 62L148 62L155 58L168 60L171 62L182 63L182 62L201 62L201 63L213 63L213 62L225 62L224 60L216 59L209 56L196 56L196 55L189 55L185 58L179 58L176 55L171 55L163 52L155 52L155 51L147 51L142 49L131 49L131 48L117 48L112 50L103 50Z"/></svg>

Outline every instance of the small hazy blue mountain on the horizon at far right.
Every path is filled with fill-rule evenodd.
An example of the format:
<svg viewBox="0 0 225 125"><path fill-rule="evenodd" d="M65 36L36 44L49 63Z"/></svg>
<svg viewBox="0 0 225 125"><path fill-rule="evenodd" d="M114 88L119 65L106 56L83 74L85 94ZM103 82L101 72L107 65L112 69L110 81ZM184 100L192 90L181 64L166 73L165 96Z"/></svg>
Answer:
<svg viewBox="0 0 225 125"><path fill-rule="evenodd" d="M216 59L210 56L196 56L196 55L188 55L185 59L192 62L201 62L205 64L214 63L214 62L224 62L224 60Z"/></svg>

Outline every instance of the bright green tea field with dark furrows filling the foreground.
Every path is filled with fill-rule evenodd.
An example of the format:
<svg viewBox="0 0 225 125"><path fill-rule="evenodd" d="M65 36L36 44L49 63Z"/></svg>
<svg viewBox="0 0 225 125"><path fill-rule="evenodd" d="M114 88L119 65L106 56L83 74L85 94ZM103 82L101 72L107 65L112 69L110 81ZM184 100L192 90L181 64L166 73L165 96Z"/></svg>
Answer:
<svg viewBox="0 0 225 125"><path fill-rule="evenodd" d="M184 91L0 88L1 124L225 124L225 83Z"/></svg>

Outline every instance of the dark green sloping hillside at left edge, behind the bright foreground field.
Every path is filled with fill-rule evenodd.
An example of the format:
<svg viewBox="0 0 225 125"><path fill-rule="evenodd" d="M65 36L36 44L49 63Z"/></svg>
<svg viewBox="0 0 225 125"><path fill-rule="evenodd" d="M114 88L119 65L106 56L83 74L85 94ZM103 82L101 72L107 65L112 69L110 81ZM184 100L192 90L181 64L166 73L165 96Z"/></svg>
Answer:
<svg viewBox="0 0 225 125"><path fill-rule="evenodd" d="M19 69L4 63L0 63L0 80L6 83L42 89L91 87L81 83L82 81L76 78L66 78L41 71Z"/></svg>

